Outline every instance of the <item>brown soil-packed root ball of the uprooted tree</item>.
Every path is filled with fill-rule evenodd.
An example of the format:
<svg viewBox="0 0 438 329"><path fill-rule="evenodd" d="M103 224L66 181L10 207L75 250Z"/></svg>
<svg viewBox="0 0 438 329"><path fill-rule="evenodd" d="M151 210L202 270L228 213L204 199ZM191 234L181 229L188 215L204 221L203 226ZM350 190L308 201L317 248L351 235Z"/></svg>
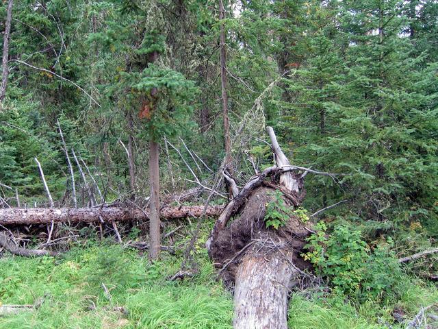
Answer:
<svg viewBox="0 0 438 329"><path fill-rule="evenodd" d="M244 205L233 214L237 218L227 228L218 231L212 240L209 256L229 287L235 282L242 259L248 256L263 258L277 254L300 270L311 268L300 253L306 244L305 238L311 234L312 223L303 223L292 215L278 230L266 226L266 206L275 202L274 191L272 184L255 188ZM294 206L284 194L283 200L285 204Z"/></svg>

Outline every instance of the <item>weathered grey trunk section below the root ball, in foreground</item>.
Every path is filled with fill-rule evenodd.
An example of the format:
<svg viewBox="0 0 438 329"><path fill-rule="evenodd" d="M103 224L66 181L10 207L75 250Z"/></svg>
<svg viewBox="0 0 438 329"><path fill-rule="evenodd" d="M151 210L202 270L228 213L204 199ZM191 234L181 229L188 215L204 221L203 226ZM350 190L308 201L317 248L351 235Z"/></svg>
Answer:
<svg viewBox="0 0 438 329"><path fill-rule="evenodd" d="M244 257L235 278L234 328L287 329L287 296L297 274L279 252Z"/></svg>

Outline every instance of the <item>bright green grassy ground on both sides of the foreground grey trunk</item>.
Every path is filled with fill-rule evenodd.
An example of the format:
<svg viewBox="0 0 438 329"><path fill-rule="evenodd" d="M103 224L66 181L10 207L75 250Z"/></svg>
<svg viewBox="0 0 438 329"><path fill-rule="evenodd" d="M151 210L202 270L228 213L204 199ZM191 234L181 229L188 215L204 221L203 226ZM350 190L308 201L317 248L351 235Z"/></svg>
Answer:
<svg viewBox="0 0 438 329"><path fill-rule="evenodd" d="M202 247L205 237L196 247L196 276L168 280L179 270L188 239L178 242L181 252L163 252L154 264L136 249L92 239L56 258L3 254L0 304L40 306L0 317L0 328L232 328L232 296L216 280ZM416 279L403 282L397 300L385 304L304 291L294 293L288 323L297 329L406 328L406 321L394 324L394 308L402 308L409 321L437 300L437 287Z"/></svg>

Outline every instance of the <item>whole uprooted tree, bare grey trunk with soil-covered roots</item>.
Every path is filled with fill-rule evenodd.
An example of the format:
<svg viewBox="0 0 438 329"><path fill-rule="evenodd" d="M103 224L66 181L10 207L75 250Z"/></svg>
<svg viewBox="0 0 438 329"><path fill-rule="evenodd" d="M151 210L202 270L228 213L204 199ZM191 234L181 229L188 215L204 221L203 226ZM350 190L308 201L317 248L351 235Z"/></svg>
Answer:
<svg viewBox="0 0 438 329"><path fill-rule="evenodd" d="M277 166L287 166L274 131L267 130ZM279 167L267 168L245 184L224 208L207 240L222 280L235 287L236 329L287 329L292 284L300 269L309 268L300 253L311 223L284 212L278 229L266 226L267 205L279 202L274 193L281 191L281 200L291 208L298 207L305 195L302 175Z"/></svg>

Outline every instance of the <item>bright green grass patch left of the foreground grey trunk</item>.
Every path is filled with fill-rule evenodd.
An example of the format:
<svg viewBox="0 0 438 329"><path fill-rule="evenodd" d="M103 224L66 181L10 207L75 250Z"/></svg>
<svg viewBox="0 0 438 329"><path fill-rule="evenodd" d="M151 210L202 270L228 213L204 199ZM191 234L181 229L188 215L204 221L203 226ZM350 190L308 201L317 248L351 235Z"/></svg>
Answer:
<svg viewBox="0 0 438 329"><path fill-rule="evenodd" d="M181 258L151 264L106 243L88 242L59 259L0 258L0 304L44 297L34 312L0 317L0 328L231 328L231 295L212 280L208 259L198 261L193 281L169 282Z"/></svg>

